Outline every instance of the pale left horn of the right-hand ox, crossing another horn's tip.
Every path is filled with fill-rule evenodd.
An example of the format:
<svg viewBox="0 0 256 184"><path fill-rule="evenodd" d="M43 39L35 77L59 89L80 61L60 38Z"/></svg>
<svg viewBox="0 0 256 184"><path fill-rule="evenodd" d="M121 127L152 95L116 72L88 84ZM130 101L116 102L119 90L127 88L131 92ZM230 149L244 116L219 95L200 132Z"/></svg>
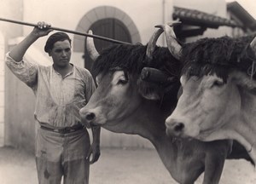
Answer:
<svg viewBox="0 0 256 184"><path fill-rule="evenodd" d="M177 43L177 38L175 33L173 32L173 29L171 26L174 26L175 24L180 23L180 22L173 22L172 25L160 25L156 27L161 27L166 34L166 43L169 51L171 54L179 60L181 57L181 45Z"/></svg>

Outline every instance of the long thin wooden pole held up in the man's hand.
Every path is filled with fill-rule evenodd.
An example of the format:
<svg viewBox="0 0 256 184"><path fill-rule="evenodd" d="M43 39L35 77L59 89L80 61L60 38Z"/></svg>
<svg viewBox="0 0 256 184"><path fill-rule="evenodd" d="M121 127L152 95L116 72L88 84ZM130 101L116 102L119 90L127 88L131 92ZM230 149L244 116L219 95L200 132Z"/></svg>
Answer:
<svg viewBox="0 0 256 184"><path fill-rule="evenodd" d="M18 20L9 20L9 19L3 19L3 18L0 18L0 20L1 21L15 23L15 24L20 24L20 25L24 25L24 26L33 26L33 27L34 26L38 26L37 24L32 24L32 23L18 21ZM108 37L101 37L101 36L98 36L98 35L90 35L90 34L86 34L84 32L74 32L72 30L67 30L67 29L63 29L63 28L59 28L59 27L54 27L54 26L51 26L50 29L61 31L61 32L69 32L69 33L73 33L73 34L84 36L84 37L94 37L96 39L105 40L105 41L108 41L108 42L111 42L111 43L131 44L131 43L122 42L122 41L115 40L115 39L108 38Z"/></svg>

